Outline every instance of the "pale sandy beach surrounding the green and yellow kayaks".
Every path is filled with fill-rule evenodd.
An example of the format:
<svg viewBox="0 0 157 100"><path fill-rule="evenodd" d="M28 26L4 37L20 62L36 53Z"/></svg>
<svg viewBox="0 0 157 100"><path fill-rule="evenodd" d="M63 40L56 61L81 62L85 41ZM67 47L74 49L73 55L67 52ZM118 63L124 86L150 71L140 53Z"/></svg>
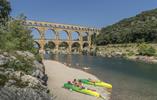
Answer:
<svg viewBox="0 0 157 100"><path fill-rule="evenodd" d="M97 79L94 75L70 68L56 61L44 60L43 63L45 65L46 74L48 75L48 88L52 91L55 100L103 100L63 88L63 84L68 80L71 81L75 78Z"/></svg>

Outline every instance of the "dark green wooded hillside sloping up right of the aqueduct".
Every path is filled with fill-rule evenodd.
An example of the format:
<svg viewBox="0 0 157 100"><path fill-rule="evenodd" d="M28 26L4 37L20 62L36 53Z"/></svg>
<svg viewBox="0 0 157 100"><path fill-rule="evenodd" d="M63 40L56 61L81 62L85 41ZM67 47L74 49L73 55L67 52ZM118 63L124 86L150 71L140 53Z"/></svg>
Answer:
<svg viewBox="0 0 157 100"><path fill-rule="evenodd" d="M96 43L105 45L109 43L157 42L156 27L157 9L153 9L102 28Z"/></svg>

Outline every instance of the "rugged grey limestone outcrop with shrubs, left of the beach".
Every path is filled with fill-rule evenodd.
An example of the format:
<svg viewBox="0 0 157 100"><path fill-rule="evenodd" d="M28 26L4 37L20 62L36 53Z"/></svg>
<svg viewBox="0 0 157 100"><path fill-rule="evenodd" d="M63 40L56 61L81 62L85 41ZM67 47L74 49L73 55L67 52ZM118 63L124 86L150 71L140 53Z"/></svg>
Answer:
<svg viewBox="0 0 157 100"><path fill-rule="evenodd" d="M0 100L52 100L45 76L44 65L32 53L0 53Z"/></svg>

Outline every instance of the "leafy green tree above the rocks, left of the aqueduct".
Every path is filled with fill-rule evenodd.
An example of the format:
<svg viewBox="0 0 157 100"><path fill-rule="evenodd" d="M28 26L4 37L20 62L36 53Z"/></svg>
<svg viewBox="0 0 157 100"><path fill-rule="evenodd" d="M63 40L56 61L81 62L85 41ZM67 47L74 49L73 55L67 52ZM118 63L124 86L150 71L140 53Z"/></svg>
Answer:
<svg viewBox="0 0 157 100"><path fill-rule="evenodd" d="M16 20L12 19L8 22L7 26L5 26L5 30L0 30L0 49L6 51L33 51L34 44L31 31L27 27L21 25L24 20L24 16L20 16Z"/></svg>

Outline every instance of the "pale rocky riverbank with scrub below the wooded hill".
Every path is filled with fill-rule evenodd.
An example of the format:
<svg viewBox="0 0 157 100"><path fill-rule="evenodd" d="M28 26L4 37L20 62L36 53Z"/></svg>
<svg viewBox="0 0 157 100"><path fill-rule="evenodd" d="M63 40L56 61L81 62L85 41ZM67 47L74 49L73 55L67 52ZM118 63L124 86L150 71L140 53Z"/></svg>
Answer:
<svg viewBox="0 0 157 100"><path fill-rule="evenodd" d="M157 44L148 44L157 51ZM109 44L97 47L97 56L123 57L134 61L157 63L157 56L142 56L138 52L139 44Z"/></svg>

